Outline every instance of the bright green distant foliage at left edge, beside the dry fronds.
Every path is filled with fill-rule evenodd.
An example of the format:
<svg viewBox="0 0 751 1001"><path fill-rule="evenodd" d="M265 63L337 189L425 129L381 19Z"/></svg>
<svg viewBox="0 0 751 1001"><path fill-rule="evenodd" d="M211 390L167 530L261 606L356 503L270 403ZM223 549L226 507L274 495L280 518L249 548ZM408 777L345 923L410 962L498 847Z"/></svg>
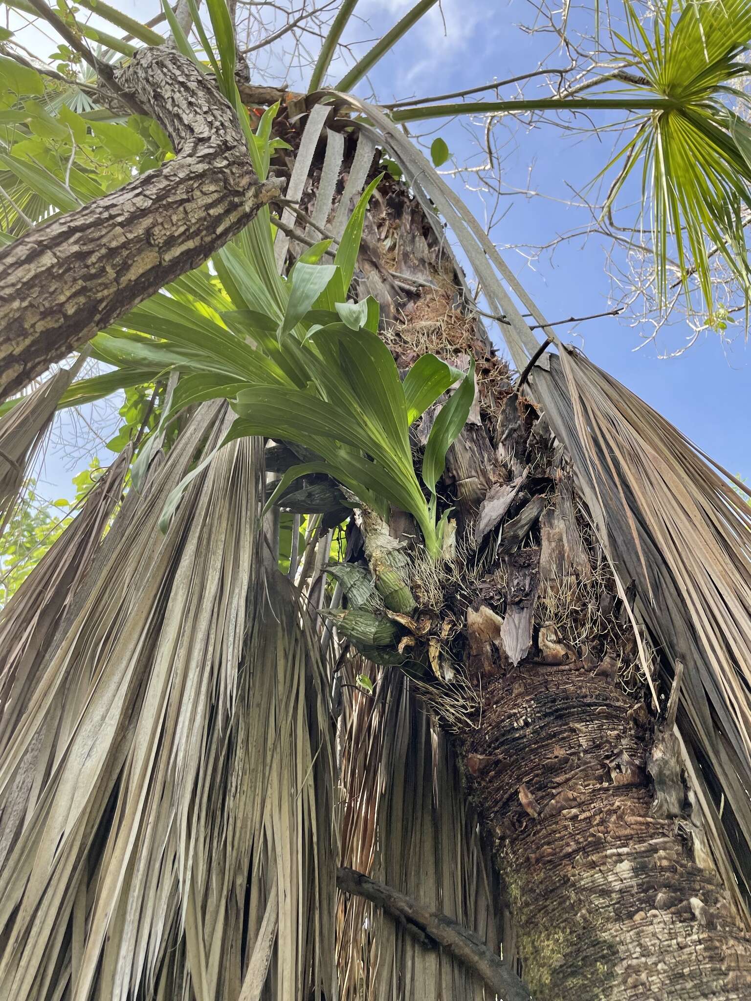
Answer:
<svg viewBox="0 0 751 1001"><path fill-rule="evenodd" d="M75 510L100 475L99 459L73 476L73 502L45 500L36 480L26 484L21 503L0 539L0 608L18 591L42 557L73 521Z"/></svg>

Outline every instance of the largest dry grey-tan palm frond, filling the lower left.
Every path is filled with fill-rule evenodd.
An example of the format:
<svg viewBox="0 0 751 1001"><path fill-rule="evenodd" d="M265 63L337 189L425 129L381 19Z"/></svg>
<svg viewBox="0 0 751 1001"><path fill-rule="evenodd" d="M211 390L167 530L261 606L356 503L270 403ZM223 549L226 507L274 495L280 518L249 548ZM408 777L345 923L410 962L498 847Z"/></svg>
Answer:
<svg viewBox="0 0 751 1001"><path fill-rule="evenodd" d="M9 1001L330 986L320 667L290 596L270 597L257 440L222 449L158 531L226 425L204 405L124 506L22 719L0 725L0 809L24 805L0 872Z"/></svg>

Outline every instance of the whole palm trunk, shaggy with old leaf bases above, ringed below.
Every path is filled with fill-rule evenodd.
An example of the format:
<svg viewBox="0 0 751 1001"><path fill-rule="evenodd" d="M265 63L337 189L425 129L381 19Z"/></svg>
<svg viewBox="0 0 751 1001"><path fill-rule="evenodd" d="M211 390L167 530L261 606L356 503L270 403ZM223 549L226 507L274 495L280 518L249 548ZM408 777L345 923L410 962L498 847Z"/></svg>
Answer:
<svg viewBox="0 0 751 1001"><path fill-rule="evenodd" d="M420 206L389 177L380 190L360 264L400 367L429 350L477 362L480 405L447 462L459 557L437 610L459 629L472 696L464 724L444 714L446 694L435 706L495 847L513 916L505 954L540 1001L741 1001L751 939L692 815L674 719L645 704L636 638L566 456L462 309Z"/></svg>

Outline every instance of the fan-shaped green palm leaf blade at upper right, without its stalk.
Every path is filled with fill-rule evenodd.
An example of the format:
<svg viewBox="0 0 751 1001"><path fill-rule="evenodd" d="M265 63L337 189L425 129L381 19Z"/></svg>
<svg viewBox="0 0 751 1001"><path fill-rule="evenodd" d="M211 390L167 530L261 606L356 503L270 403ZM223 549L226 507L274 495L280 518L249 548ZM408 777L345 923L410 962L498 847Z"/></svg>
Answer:
<svg viewBox="0 0 751 1001"><path fill-rule="evenodd" d="M644 118L633 148L641 155L626 161L608 207L641 159L658 292L667 298L672 238L681 280L688 287L689 275L696 274L711 312L713 246L747 296L751 288L743 215L744 205L751 204L751 162L737 141L738 119L728 106L730 97L746 100L733 83L749 74L739 57L751 39L751 6L743 0L700 0L681 7L668 0L654 18L652 38L631 4L626 11L632 37L621 41L634 68L675 107Z"/></svg>

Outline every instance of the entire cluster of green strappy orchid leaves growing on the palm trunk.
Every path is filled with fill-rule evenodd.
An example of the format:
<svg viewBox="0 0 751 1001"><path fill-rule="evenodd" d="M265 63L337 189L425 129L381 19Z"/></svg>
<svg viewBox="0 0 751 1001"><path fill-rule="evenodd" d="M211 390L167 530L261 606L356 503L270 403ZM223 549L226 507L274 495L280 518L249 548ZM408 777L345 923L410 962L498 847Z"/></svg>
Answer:
<svg viewBox="0 0 751 1001"><path fill-rule="evenodd" d="M334 264L299 260L288 279L277 277L283 305L273 314L267 295L260 294L254 259L235 243L223 255L224 263L232 265L224 290L239 308L213 308L222 305L215 292L212 305L203 301L201 310L199 300L191 301L184 292L181 301L156 295L131 310L119 329L99 334L94 354L124 368L179 369L172 412L200 399L229 398L239 419L225 441L263 434L307 448L314 458L288 469L271 502L299 476L324 472L385 519L392 505L411 512L428 550L438 557L436 483L446 449L461 431L474 398L473 372L463 377L429 356L416 363L403 383L389 349L373 332L376 303L346 302L373 189L374 182L352 212ZM242 266L235 268L238 263ZM234 285L235 276L241 276L240 287ZM248 301L260 309L243 308ZM415 473L409 427L458 377L463 377L462 388L442 410L428 441L427 500ZM190 478L169 498L163 526Z"/></svg>

